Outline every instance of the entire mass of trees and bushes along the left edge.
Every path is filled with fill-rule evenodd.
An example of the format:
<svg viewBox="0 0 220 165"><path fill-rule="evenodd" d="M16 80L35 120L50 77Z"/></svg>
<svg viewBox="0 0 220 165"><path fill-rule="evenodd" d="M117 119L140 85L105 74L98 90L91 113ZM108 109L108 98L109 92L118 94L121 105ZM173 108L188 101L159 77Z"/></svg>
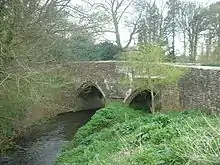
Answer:
<svg viewBox="0 0 220 165"><path fill-rule="evenodd" d="M23 131L27 112L35 104L52 106L53 94L65 85L64 75L51 73L56 68L51 49L71 31L68 3L0 2L0 152ZM53 64L45 67L48 63Z"/></svg>

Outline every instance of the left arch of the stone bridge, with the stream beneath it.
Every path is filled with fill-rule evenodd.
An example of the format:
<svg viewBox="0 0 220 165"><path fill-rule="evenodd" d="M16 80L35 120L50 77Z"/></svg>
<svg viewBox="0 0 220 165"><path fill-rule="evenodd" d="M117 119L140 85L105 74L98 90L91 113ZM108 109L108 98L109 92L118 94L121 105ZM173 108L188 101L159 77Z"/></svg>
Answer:
<svg viewBox="0 0 220 165"><path fill-rule="evenodd" d="M106 95L100 86L91 81L83 82L76 91L75 107L80 110L98 110L105 107Z"/></svg>

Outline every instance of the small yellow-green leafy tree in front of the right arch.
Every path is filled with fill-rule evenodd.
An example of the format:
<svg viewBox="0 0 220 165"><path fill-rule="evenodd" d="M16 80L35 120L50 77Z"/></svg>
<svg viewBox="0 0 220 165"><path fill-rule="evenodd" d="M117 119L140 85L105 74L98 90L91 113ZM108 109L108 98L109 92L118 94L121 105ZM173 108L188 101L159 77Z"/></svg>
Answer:
<svg viewBox="0 0 220 165"><path fill-rule="evenodd" d="M163 49L154 44L143 45L138 51L128 52L124 60L124 67L132 71L132 88L150 91L152 113L155 112L155 96L159 88L177 83L185 73L184 68L165 64Z"/></svg>

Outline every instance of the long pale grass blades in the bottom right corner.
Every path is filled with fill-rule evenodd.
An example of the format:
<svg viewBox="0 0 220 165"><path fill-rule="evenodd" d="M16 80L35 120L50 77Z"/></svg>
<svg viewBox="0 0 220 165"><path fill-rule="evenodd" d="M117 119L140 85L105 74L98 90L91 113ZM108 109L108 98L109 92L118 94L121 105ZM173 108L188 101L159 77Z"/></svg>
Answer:
<svg viewBox="0 0 220 165"><path fill-rule="evenodd" d="M189 131L185 131L183 136L172 144L175 154L181 156L186 164L220 164L219 117L211 120L203 116L201 121L193 120L186 123ZM193 122L196 127L192 126Z"/></svg>

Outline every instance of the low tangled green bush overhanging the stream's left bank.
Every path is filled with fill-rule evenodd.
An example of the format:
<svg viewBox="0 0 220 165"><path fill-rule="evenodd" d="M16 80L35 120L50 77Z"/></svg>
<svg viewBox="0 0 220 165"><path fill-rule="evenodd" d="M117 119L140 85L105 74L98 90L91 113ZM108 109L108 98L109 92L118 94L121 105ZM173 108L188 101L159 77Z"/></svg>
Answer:
<svg viewBox="0 0 220 165"><path fill-rule="evenodd" d="M0 91L0 153L13 147L14 140L24 133L28 121L34 117L27 114L34 106L45 108L53 115L58 110L57 95L70 81L68 74L57 68L34 69L35 72L14 73L2 84ZM39 114L40 115L40 114ZM30 117L30 118L29 118ZM47 116L48 117L48 116Z"/></svg>

